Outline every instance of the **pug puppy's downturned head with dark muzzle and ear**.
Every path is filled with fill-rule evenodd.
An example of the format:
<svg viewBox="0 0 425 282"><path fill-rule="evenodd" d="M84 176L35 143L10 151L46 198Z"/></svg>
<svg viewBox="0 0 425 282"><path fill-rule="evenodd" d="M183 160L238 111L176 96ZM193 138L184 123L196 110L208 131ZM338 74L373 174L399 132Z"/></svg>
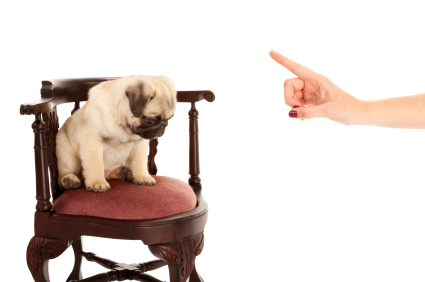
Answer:
<svg viewBox="0 0 425 282"><path fill-rule="evenodd" d="M137 76L125 90L127 126L144 139L161 137L176 109L176 90L164 76Z"/></svg>

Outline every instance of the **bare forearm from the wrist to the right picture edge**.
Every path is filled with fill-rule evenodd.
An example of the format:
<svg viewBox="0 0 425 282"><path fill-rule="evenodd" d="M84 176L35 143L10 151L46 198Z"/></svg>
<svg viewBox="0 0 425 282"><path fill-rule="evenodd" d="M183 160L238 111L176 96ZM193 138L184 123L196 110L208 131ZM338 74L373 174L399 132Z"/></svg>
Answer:
<svg viewBox="0 0 425 282"><path fill-rule="evenodd" d="M363 105L360 125L425 129L425 93L363 101Z"/></svg>

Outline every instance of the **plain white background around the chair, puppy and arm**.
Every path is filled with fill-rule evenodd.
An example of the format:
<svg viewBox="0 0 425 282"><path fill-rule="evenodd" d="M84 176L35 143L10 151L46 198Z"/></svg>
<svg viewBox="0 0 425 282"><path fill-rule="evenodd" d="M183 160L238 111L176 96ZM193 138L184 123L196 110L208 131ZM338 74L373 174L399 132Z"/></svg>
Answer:
<svg viewBox="0 0 425 282"><path fill-rule="evenodd" d="M198 103L205 281L424 281L421 130L293 120L274 49L365 100L425 92L421 1L4 1L1 4L2 281L25 262L35 201L33 116L50 78L165 74ZM60 123L71 105L59 107ZM188 104L159 142L159 175L186 180ZM84 238L120 262L140 241ZM72 250L50 261L65 281ZM85 277L104 271L83 263ZM153 273L168 279L164 268Z"/></svg>

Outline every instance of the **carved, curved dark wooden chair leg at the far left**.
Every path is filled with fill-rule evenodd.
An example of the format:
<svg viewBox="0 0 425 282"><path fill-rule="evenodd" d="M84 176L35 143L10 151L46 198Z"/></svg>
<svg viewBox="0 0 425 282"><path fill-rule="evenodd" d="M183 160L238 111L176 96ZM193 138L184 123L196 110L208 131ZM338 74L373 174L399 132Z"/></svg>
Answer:
<svg viewBox="0 0 425 282"><path fill-rule="evenodd" d="M27 264L35 282L50 282L49 260L60 256L72 244L69 240L32 237L27 248Z"/></svg>

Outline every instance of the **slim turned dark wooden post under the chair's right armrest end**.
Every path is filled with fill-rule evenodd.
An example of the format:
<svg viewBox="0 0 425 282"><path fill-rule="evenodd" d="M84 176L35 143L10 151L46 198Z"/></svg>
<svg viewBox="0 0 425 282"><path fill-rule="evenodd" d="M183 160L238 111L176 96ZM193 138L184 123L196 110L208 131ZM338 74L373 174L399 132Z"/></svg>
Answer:
<svg viewBox="0 0 425 282"><path fill-rule="evenodd" d="M193 189L201 189L201 173L199 168L199 139L198 139L198 116L199 112L195 107L195 102L191 102L189 111L189 185Z"/></svg>

